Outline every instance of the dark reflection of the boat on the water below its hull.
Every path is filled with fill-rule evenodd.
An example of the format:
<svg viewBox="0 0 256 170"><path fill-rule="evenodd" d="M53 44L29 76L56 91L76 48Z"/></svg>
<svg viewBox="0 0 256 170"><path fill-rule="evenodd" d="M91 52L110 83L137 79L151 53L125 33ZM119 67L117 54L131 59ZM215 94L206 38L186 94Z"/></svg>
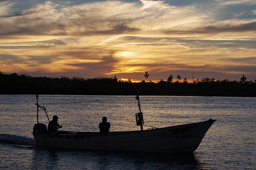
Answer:
<svg viewBox="0 0 256 170"><path fill-rule="evenodd" d="M204 169L194 154L35 148L34 169Z"/></svg>

